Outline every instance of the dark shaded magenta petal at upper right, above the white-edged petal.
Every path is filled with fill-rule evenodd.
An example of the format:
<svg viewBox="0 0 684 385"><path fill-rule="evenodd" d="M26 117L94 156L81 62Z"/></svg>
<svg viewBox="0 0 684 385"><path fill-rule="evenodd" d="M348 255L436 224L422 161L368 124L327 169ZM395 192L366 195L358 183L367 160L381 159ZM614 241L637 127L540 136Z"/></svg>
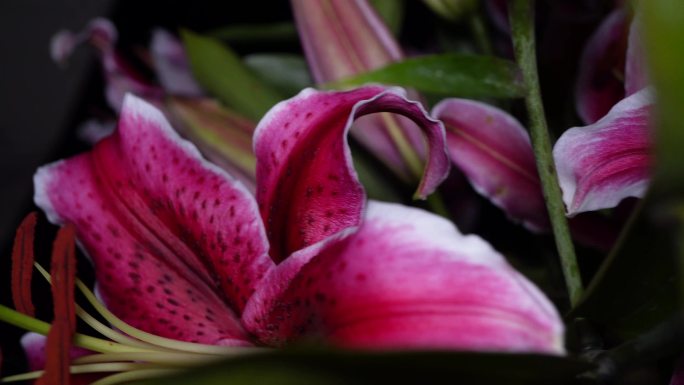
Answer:
<svg viewBox="0 0 684 385"><path fill-rule="evenodd" d="M575 96L577 112L586 124L601 119L625 97L627 23L624 9L613 11L589 38L582 53Z"/></svg>

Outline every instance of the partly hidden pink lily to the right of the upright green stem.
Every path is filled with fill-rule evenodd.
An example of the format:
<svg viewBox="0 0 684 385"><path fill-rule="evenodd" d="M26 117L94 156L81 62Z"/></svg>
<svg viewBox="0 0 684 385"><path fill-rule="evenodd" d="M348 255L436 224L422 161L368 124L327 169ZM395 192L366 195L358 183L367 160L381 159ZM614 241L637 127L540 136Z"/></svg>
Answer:
<svg viewBox="0 0 684 385"><path fill-rule="evenodd" d="M646 87L638 21L629 28L627 21L622 9L614 11L587 43L577 102L580 116L590 124L567 130L554 146L571 216L615 207L626 197L643 197L648 187L654 100ZM616 78L615 70L622 71L624 79Z"/></svg>

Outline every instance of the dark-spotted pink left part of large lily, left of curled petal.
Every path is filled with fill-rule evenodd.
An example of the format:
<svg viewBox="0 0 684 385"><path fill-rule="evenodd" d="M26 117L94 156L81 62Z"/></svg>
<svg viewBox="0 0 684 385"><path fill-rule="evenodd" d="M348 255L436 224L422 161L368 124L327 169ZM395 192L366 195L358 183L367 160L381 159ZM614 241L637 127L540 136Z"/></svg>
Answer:
<svg viewBox="0 0 684 385"><path fill-rule="evenodd" d="M76 225L113 312L170 338L246 343L235 313L273 264L256 203L161 112L128 96L112 136L34 182L48 218Z"/></svg>

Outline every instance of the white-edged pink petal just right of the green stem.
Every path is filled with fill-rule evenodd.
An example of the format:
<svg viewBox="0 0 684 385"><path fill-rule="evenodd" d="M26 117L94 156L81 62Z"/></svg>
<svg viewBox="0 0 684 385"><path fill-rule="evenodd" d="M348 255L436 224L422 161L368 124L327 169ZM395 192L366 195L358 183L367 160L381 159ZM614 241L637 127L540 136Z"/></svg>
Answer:
<svg viewBox="0 0 684 385"><path fill-rule="evenodd" d="M603 119L566 131L553 149L568 214L615 207L642 197L651 162L646 88L616 104Z"/></svg>

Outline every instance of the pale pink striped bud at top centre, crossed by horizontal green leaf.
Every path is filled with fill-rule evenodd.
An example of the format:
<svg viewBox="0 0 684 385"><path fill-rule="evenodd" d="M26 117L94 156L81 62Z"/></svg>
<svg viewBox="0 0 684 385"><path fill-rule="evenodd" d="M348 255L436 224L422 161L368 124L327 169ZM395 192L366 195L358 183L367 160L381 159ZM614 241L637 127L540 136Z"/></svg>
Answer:
<svg viewBox="0 0 684 385"><path fill-rule="evenodd" d="M383 67L404 57L382 18L366 0L293 0L302 47L317 83L341 80ZM409 99L419 100L409 91ZM352 135L400 178L414 175L408 157L425 149L408 119L380 115L354 124Z"/></svg>

